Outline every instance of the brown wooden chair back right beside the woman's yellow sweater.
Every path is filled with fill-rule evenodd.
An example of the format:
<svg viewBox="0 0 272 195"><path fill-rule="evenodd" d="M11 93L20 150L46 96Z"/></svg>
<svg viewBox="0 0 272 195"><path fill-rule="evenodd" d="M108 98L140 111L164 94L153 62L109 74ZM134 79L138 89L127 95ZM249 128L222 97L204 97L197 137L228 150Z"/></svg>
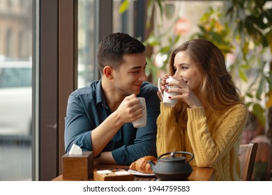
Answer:
<svg viewBox="0 0 272 195"><path fill-rule="evenodd" d="M242 181L251 181L258 143L240 145L239 158L241 163Z"/></svg>

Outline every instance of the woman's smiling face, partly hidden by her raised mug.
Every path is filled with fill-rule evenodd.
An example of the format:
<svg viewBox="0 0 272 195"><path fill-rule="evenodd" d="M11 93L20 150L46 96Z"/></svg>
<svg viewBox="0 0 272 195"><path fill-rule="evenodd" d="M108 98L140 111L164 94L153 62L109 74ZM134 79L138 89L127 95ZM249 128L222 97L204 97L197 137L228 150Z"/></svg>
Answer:
<svg viewBox="0 0 272 195"><path fill-rule="evenodd" d="M185 51L178 52L174 58L174 77L182 78L194 92L200 87L200 74L197 65L190 59Z"/></svg>

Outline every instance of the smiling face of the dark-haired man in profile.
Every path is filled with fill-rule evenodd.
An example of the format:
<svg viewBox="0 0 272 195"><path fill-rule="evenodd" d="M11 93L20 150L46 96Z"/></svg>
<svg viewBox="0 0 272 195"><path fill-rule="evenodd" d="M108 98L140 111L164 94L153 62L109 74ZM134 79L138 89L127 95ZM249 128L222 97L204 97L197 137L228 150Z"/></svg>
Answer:
<svg viewBox="0 0 272 195"><path fill-rule="evenodd" d="M144 53L126 54L119 70L114 70L114 86L123 95L139 94L142 82L147 80L146 55Z"/></svg>

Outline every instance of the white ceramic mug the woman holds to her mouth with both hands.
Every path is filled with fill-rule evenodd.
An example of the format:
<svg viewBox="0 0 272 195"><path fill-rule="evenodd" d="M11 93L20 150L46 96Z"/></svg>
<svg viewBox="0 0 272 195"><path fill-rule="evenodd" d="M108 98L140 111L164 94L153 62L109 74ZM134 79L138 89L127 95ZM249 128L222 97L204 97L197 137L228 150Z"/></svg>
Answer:
<svg viewBox="0 0 272 195"><path fill-rule="evenodd" d="M160 95L161 97L163 98L163 104L165 104L165 106L167 107L174 107L176 105L176 102L177 100L172 100L172 99L169 99L169 96L174 96L174 95L178 95L178 93L167 93L165 90L162 92L161 91L161 81L163 79L161 78L158 78L158 89L160 91ZM176 79L174 79L173 77L169 76L167 79L166 79L166 82L169 83L169 82L172 82L172 81L177 81ZM178 86L167 86L166 85L166 88L165 89L169 89L169 88L177 88Z"/></svg>

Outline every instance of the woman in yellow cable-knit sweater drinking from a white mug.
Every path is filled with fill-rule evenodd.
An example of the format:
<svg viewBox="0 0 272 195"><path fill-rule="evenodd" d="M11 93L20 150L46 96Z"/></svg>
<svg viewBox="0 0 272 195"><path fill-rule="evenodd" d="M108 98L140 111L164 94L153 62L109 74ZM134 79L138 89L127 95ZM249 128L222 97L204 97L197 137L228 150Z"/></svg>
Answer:
<svg viewBox="0 0 272 195"><path fill-rule="evenodd" d="M193 153L192 164L213 167L215 180L240 180L239 142L248 109L239 97L218 47L203 39L184 42L170 57L169 75L178 81L165 85L178 95L175 107L160 103L157 154ZM161 99L160 91L158 97Z"/></svg>

